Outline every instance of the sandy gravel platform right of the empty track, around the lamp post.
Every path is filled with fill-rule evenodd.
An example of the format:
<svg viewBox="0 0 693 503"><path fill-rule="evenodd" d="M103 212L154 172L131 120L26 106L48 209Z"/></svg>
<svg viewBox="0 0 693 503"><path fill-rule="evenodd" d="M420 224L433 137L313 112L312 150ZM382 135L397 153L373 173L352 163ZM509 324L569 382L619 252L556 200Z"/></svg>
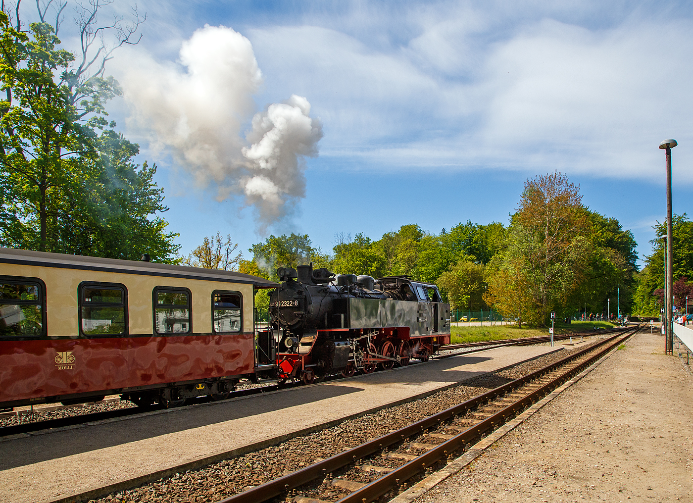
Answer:
<svg viewBox="0 0 693 503"><path fill-rule="evenodd" d="M417 502L692 501L693 378L663 345L639 333Z"/></svg>

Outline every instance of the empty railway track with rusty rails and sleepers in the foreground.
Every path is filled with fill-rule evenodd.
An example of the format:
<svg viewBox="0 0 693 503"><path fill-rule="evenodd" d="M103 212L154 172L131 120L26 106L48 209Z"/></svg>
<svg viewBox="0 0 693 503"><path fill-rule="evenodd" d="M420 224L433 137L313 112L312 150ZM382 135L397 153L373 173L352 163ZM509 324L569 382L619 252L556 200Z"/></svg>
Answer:
<svg viewBox="0 0 693 503"><path fill-rule="evenodd" d="M220 503L326 503L335 497L340 497L338 503L387 501L407 484L446 466L640 328L611 335L527 376Z"/></svg>

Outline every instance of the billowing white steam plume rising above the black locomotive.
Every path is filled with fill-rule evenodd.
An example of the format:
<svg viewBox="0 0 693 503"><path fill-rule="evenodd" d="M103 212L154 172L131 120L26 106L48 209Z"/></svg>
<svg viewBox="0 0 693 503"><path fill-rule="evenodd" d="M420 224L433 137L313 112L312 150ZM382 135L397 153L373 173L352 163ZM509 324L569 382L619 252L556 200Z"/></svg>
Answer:
<svg viewBox="0 0 693 503"><path fill-rule="evenodd" d="M261 230L288 215L306 195L305 157L317 157L322 124L310 103L292 95L241 125L254 112L262 83L250 41L225 26L204 26L182 44L179 62L132 55L123 69L123 96L152 148L170 148L200 186L216 184L218 198L242 195Z"/></svg>

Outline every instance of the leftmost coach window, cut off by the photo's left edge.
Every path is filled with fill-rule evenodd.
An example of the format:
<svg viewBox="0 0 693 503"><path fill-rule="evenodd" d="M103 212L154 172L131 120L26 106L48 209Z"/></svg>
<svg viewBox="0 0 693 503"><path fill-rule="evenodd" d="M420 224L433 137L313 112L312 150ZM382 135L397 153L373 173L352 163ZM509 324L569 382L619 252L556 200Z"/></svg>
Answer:
<svg viewBox="0 0 693 503"><path fill-rule="evenodd" d="M0 337L42 335L45 292L40 279L0 276Z"/></svg>

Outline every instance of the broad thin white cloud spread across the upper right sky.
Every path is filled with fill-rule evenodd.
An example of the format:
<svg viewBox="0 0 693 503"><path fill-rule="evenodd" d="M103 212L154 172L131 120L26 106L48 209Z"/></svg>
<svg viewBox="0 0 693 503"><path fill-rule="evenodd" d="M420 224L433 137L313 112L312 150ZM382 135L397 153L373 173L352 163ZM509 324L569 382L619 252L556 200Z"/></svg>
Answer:
<svg viewBox="0 0 693 503"><path fill-rule="evenodd" d="M693 160L682 113L691 105L689 20L597 29L521 19L500 29L492 10L428 14L405 44L385 47L320 26L248 34L282 85L311 96L328 131L322 155L342 166L658 179L657 145L671 136L681 143L674 164ZM690 170L679 175L693 181Z"/></svg>

